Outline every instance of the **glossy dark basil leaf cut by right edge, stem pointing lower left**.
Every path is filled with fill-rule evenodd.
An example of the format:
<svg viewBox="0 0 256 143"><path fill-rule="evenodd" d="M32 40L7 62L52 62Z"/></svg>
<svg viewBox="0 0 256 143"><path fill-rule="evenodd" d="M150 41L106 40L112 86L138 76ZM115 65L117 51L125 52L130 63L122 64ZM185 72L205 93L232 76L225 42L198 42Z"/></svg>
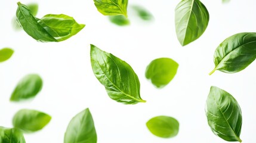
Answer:
<svg viewBox="0 0 256 143"><path fill-rule="evenodd" d="M256 33L238 33L224 40L215 49L215 70L236 73L245 69L256 58Z"/></svg>

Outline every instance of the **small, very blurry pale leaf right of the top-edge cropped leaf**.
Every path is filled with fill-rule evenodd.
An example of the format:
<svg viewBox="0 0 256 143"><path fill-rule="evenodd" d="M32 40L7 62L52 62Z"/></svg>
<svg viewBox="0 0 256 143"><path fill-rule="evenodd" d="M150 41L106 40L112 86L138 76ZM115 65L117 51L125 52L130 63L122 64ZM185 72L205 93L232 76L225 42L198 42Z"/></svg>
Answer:
<svg viewBox="0 0 256 143"><path fill-rule="evenodd" d="M153 15L149 11L147 11L145 8L138 5L133 5L132 8L133 10L136 11L136 13L141 19L147 20L147 21L153 20Z"/></svg>

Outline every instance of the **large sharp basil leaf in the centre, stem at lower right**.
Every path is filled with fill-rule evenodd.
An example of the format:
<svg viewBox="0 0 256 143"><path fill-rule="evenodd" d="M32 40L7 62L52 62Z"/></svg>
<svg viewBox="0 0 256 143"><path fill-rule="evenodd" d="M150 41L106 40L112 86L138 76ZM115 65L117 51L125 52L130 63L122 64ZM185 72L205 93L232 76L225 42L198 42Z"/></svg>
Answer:
<svg viewBox="0 0 256 143"><path fill-rule="evenodd" d="M146 102L140 97L140 81L137 74L125 61L91 45L91 66L112 100L124 104Z"/></svg>

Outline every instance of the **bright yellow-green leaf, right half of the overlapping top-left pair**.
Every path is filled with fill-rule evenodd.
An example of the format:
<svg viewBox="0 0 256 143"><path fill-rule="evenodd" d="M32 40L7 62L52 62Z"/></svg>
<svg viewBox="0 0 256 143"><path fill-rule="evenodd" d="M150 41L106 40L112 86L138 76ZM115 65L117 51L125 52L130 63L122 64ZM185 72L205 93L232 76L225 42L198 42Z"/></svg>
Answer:
<svg viewBox="0 0 256 143"><path fill-rule="evenodd" d="M85 27L85 24L78 24L73 17L64 14L45 15L38 23L58 42L69 39Z"/></svg>

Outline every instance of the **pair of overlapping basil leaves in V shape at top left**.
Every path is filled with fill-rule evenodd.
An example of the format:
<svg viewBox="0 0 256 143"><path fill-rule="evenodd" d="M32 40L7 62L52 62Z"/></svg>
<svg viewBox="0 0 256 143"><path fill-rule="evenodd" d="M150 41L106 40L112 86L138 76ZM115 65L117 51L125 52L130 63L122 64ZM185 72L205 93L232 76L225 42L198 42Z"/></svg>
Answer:
<svg viewBox="0 0 256 143"><path fill-rule="evenodd" d="M26 5L18 2L17 21L32 38L41 42L60 42L76 35L85 25L64 14L47 14L41 19L32 15Z"/></svg>

